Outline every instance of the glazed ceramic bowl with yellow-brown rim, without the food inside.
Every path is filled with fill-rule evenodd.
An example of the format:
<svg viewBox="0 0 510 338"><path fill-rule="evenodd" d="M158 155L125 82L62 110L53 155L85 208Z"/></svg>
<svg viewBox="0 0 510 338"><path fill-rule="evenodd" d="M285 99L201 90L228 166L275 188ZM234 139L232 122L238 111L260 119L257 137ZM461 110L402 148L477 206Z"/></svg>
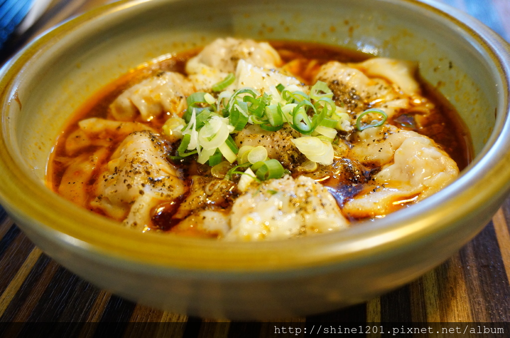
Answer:
<svg viewBox="0 0 510 338"><path fill-rule="evenodd" d="M225 36L314 41L416 60L464 119L474 160L451 185L406 210L338 233L260 243L136 233L46 187L55 140L89 96L159 55ZM70 271L168 311L271 319L362 302L453 255L507 195L509 54L480 22L429 1L155 0L102 7L39 37L1 70L0 203Z"/></svg>

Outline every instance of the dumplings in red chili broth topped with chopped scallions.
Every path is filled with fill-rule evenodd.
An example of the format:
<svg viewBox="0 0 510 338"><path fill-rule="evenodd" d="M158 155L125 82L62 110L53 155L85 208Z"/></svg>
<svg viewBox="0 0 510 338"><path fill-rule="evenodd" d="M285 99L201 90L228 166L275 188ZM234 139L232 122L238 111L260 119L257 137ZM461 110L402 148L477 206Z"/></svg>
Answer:
<svg viewBox="0 0 510 338"><path fill-rule="evenodd" d="M140 232L271 240L407 208L470 154L462 121L413 62L224 38L90 98L47 180Z"/></svg>

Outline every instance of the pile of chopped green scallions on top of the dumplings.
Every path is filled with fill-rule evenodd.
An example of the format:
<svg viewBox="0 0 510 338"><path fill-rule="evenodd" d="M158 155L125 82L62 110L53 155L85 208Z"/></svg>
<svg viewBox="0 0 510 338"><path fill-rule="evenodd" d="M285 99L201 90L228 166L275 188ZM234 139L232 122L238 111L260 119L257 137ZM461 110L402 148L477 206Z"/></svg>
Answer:
<svg viewBox="0 0 510 338"><path fill-rule="evenodd" d="M213 86L213 91L225 89L234 80L235 76L228 74ZM194 93L187 98L188 108L183 116L187 124L182 129L183 139L177 149L179 157L197 154L199 163L207 162L211 166L220 163L223 157L230 163L244 160L246 156L238 156L239 150L230 134L243 130L247 124L258 124L263 130L277 131L288 123L301 134L317 135L318 142L328 144L336 137L339 125L336 112L340 108L333 102L333 92L324 82L318 81L310 95L302 92L301 87L280 84L262 95L253 88L241 88L234 93L223 91L216 97L209 93ZM364 128L360 119L358 124ZM249 161L257 177L283 176L283 167L277 160L257 160L256 163L253 159ZM231 174L235 172L233 170Z"/></svg>

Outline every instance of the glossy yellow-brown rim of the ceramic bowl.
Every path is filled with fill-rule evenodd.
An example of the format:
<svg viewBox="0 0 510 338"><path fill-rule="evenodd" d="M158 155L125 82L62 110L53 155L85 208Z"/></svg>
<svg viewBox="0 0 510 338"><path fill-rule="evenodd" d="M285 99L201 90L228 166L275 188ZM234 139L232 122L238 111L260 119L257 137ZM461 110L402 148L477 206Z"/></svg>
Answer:
<svg viewBox="0 0 510 338"><path fill-rule="evenodd" d="M31 58L50 48L59 38L80 29L90 21L107 20L112 14L122 14L121 11L179 1L122 0L62 23L35 39L4 65L0 71L3 75L0 80L3 99L12 100L6 96L9 95L9 88L15 86L17 74L23 71ZM413 217L397 211L377 222L360 222L356 227L340 232L278 241L239 243L150 233L140 236L138 232L119 227L117 222L74 206L49 189L40 189L38 185L24 178L22 171L17 170L17 160L9 152L6 143L9 130L4 116L0 135L0 172L3 173L0 175L0 203L16 221L27 227L22 227L23 230L52 238L79 255L108 264L129 263L133 264L133 269L142 270L158 267L187 271L256 273L349 266L354 262L377 261L381 256L409 250L418 244L425 245L452 232L462 226L461 220L466 218L466 215L479 217L476 209L487 201L491 201L493 209L499 207L510 190L510 168L505 168L502 160L510 160L510 155L505 151L505 148L510 146L510 47L476 19L446 5L439 6L440 4L430 0L384 1L419 7L460 27L488 53L497 66L504 85L499 94L500 114L486 146L456 181L436 193L441 199L425 199L414 205ZM476 27L477 31L471 26ZM491 180L488 179L489 176L492 176ZM7 190L4 185L8 182L20 184L10 184L14 189ZM25 202L27 199L38 201L28 204ZM57 206L61 207L58 214L53 212L54 200L57 201ZM427 212L432 209L435 213ZM73 226L77 217L83 224L88 224L88 227L83 224ZM479 230L481 228L477 229Z"/></svg>

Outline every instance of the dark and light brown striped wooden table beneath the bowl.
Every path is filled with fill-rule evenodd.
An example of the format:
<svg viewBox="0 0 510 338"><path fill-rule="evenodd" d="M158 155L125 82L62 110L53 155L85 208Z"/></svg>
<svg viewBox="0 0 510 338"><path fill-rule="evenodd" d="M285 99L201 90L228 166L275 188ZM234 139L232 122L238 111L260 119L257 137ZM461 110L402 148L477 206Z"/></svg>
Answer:
<svg viewBox="0 0 510 338"><path fill-rule="evenodd" d="M62 15L81 12L101 2L104 1L82 1L67 8ZM477 17L510 41L509 0L442 2ZM62 18L54 17L46 24ZM290 321L359 324L492 322L506 325L510 322L508 224L510 199L475 239L447 262L409 285L363 304ZM100 290L47 257L0 209L0 336L16 336L17 332L24 332L23 326L16 322L74 322L61 327L63 331L59 332L65 334L53 336L101 336L99 328L107 330L108 334L104 336L274 335L274 329L268 323L215 323L213 319L187 317L142 306ZM166 323L146 324L149 322ZM56 327L52 326L54 330Z"/></svg>

